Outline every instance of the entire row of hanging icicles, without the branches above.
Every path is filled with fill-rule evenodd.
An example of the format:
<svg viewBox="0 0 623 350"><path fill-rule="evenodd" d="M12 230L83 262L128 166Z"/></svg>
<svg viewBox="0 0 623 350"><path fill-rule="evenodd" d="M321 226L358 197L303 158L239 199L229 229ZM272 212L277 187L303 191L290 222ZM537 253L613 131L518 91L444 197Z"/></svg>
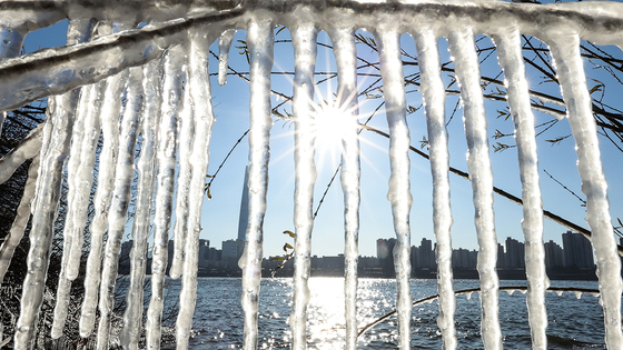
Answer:
<svg viewBox="0 0 623 350"><path fill-rule="evenodd" d="M249 147L249 222L247 243L241 259L243 308L245 310L245 349L257 347L257 313L263 258L263 221L266 210L268 186L268 141L270 136L270 70L273 67L274 21L267 14L249 17L247 43L250 57L250 147ZM301 17L301 18L313 18ZM390 131L389 157L392 177L388 199L392 202L394 227L397 234L395 261L397 270L397 311L399 349L411 349L412 300L409 291L411 266L411 188L409 188L409 133L406 123L404 76L399 50L399 28L392 26L392 18L380 19L376 29L379 48L380 73ZM117 23L120 29L134 23ZM329 31L334 43L338 69L338 96L353 116L358 113L356 49L354 29L344 27ZM309 300L307 282L310 270L310 237L313 231L312 203L316 178L314 164L313 109L316 36L318 28L307 20L291 26L295 49L295 79L293 112L295 122L295 289L290 316L293 349L306 348L306 307ZM111 23L100 22L97 34L112 31ZM86 40L91 32L89 20L71 20L68 43ZM207 32L207 34L206 34ZM78 34L77 34L78 33ZM52 337L62 336L69 303L71 282L80 271L82 232L87 221L87 207L93 181L95 152L98 139L103 139L99 160L97 192L93 199L95 218L89 226L90 252L85 277L85 301L81 309L80 336L95 331L96 309L99 310L97 333L98 349L107 349L111 332L113 292L117 278L119 250L126 228L134 179L135 151L138 136L142 138L137 163L137 211L132 227L130 287L127 309L119 334L121 344L138 348L141 337L142 288L145 257L149 222L154 206L154 262L151 300L147 311L147 348L157 349L161 336L164 283L167 266L167 242L172 206L177 221L174 226L175 252L171 277L182 278L180 310L176 326L179 349L186 349L190 336L197 287L197 253L200 233L200 212L204 200L204 181L208 166L208 146L214 114L210 102L208 52L211 41L220 31L199 28L188 31L184 46L168 48L161 60L144 67L127 69L107 80L82 87L80 93L70 91L49 99L48 118L42 131L42 144L29 172L27 189L11 238L28 221L32 212L29 270L24 280L22 310L14 336L16 349L28 349L33 342L48 257L52 240L52 220L58 207L65 158L69 180L68 216L63 231L62 269L57 291L57 306ZM228 30L220 37L219 83L225 83L227 53L234 38ZM437 239L439 318L445 349L455 349L454 329L455 297L452 277L448 151L445 130L445 90L441 79L438 33L423 28L414 34L419 53L422 93L426 102L426 119L431 146L431 167L434 186L434 230ZM524 222L526 237L526 272L528 276L528 314L534 349L546 348L546 310L544 293L548 287L545 274L543 249L543 216L538 188L534 116L530 108L530 94L521 52L520 32L516 29L501 31L493 39L508 84L508 103L513 111L516 130L520 170L523 183ZM606 182L597 148L596 129L590 110L580 38L570 32L565 37L543 38L551 46L558 67L558 77L574 138L578 144L578 169L587 193L587 221L593 232L593 246L600 271L600 291L605 313L606 344L623 347L621 334L620 260L612 236ZM453 30L449 50L461 83L464 106L465 134L468 144L468 168L472 174L474 206L478 212L477 269L482 292L482 337L486 349L502 348L502 333L497 312L498 279L495 272L497 238L493 212L493 173L488 156L486 118L481 89L481 74L474 50L474 32L471 27ZM182 89L182 84L185 88ZM125 96L125 107L121 106ZM119 116L122 114L119 124ZM178 130L178 120L180 121ZM355 119L353 119L355 120ZM39 174L34 173L39 163ZM176 180L175 169L179 164ZM357 346L356 290L357 290L357 234L359 207L359 146L357 126L344 140L342 187L345 199L346 231L346 349ZM176 191L177 186L177 192ZM155 193L156 190L156 194ZM174 192L177 202L172 203ZM155 198L154 198L155 196ZM32 199L32 203L31 203ZM29 208L30 204L30 208ZM13 236L13 231L18 232ZM103 237L107 232L106 247ZM16 240L7 240L14 242ZM19 242L19 239L17 240ZM10 248L13 243L4 243ZM17 243L14 243L17 244ZM14 249L14 247L13 247ZM12 252L11 252L12 254ZM1 271L10 259L2 257ZM3 274L2 274L3 276ZM99 296L99 297L98 297ZM99 302L99 304L98 304Z"/></svg>

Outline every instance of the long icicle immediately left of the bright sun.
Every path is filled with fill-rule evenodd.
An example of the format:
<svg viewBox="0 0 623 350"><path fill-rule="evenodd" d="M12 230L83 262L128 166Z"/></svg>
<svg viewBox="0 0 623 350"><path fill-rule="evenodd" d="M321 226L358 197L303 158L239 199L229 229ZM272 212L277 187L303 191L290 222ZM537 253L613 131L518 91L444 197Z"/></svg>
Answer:
<svg viewBox="0 0 623 350"><path fill-rule="evenodd" d="M305 14L299 13L299 16ZM293 277L294 304L289 320L293 332L293 350L307 349L306 323L307 303L309 302L307 283L312 269L314 186L316 183L316 166L314 163L316 134L314 132L312 103L314 101L317 34L318 29L314 22L307 19L296 23L291 31L295 60L293 113L295 120L294 157L296 171L294 193L294 226L296 228Z"/></svg>

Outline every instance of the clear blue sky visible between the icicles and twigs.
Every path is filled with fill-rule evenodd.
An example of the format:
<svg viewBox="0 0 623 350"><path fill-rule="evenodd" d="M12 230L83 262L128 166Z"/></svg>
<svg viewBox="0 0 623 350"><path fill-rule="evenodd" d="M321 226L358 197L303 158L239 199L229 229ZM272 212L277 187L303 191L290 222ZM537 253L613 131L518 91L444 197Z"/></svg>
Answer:
<svg viewBox="0 0 623 350"><path fill-rule="evenodd" d="M41 33L32 33L27 37L26 50L28 52L37 50L40 46L56 47L65 44L65 30L67 23L60 23L55 28L42 31ZM365 32L364 32L365 33ZM289 39L287 30L277 36L278 40ZM238 31L235 39L245 40L245 32ZM323 32L318 39L319 42L330 43L327 36ZM407 34L402 39L403 48L413 56L416 56L413 39ZM482 48L492 46L490 39L485 38L479 42ZM447 43L445 39L439 42L442 61L447 61L449 54L447 52ZM218 52L218 48L212 46L212 50ZM621 51L616 48L609 48L609 52L621 58ZM230 64L240 72L248 71L248 64L244 54L238 54L240 50L233 48L230 53ZM375 52L369 48L358 46L358 54L366 60L376 62L378 60ZM276 43L275 46L275 67L274 72L293 72L293 49L289 43ZM210 60L210 72L216 72L218 63L216 59ZM483 71L493 77L498 70L497 59L492 54L483 64ZM613 83L613 79L603 72L593 69L589 62L585 69L590 78L606 83L606 96L613 99L614 96L621 96L621 84ZM318 49L317 71L335 71L335 61L333 53L323 48ZM364 70L363 70L364 71ZM405 73L413 70L405 69ZM528 70L528 80L532 82L531 88L537 91L555 94L560 97L560 91L553 84L538 84L543 79L542 74L535 70ZM444 76L445 77L445 76ZM318 76L317 79L324 79ZM363 78L363 77L362 77ZM367 80L360 81L362 86L372 83L376 78L368 77ZM498 79L502 79L500 77ZM445 80L449 82L447 77ZM226 154L229 152L236 140L248 129L249 118L249 89L248 83L240 78L229 76L228 83L219 87L216 77L212 78L212 103L215 106L215 114L217 121L214 126L212 140L210 144L210 166L208 173L214 174L218 166L221 163ZM333 88L337 84L333 80ZM592 88L595 81L589 80ZM456 86L454 86L456 88ZM291 96L291 76L278 74L273 79L273 89L287 96ZM323 98L327 98L327 84L319 86ZM413 91L414 87L407 87L407 103L418 107L422 103L422 94ZM376 91L378 93L378 91ZM281 101L274 97L273 106ZM362 103L362 120L367 119L369 113L377 108L382 99L365 100L359 99ZM447 116L452 113L457 98L448 96ZM621 106L617 100L612 100L613 106ZM513 123L511 120L503 118L496 119L497 110L503 109L504 103L486 101L486 111L488 119L488 134L495 134L496 130L503 133L513 132ZM284 106L286 110L289 104ZM280 109L283 111L283 109ZM466 166L466 142L463 132L463 109L459 107L452 121L448 123L449 148L451 148L451 166L467 171ZM545 122L552 118L540 112L535 112L536 123ZM419 147L419 141L426 136L424 109L419 109L407 117L412 144ZM387 122L384 109L370 121L370 126L387 131ZM281 232L284 230L294 230L293 223L293 198L294 198L294 126L291 122L275 119L273 128L270 148L270 171L269 171L269 189L268 189L268 207L265 219L265 256L279 254L285 242L291 242L291 239ZM543 190L544 208L553 211L561 217L573 221L583 227L587 227L584 221L585 210L581 207L581 202L570 192L556 184L543 170L546 170L557 180L563 182L575 193L581 193L581 181L575 167L576 156L574 151L574 141L567 138L560 144L552 146L547 139L555 139L568 134L570 128L566 120L557 122L556 126L538 137L538 153L541 168L541 186ZM501 140L506 143L513 143L511 139ZM490 139L491 143L496 142ZM616 150L612 143L605 139L601 139L602 159L604 161L604 170L606 179L610 183L611 214L613 218L623 219L623 153ZM376 254L376 240L378 238L395 237L390 206L386 199L388 179L389 179L389 160L387 156L388 141L364 131L362 133L362 209L360 209L360 233L359 233L359 252L363 256ZM491 158L494 169L495 186L502 188L517 197L521 197L521 183L518 177L518 164L516 150L514 148L503 152L491 151ZM220 248L220 242L227 239L235 239L238 231L238 213L240 207L240 198L243 191L243 179L245 176L245 166L248 162L248 139L238 146L233 152L227 163L222 167L220 173L215 179L211 187L211 200L204 203L201 226L204 228L201 238L209 239L210 246ZM319 198L327 188L328 181L339 163L339 150L337 148L320 148L317 151L318 178L315 193L315 208ZM411 153L411 183L414 198L413 209L411 213L412 226L412 244L419 244L422 238L434 239L432 222L432 186L429 174L429 163L424 158L415 153ZM339 177L337 178L337 180ZM474 229L474 209L472 204L472 186L467 180L451 174L452 184L452 206L453 206L453 247L477 249L476 233ZM313 254L327 256L338 254L344 250L344 219L343 219L343 194L339 181L336 181L328 191L327 198L319 210L315 221L313 236ZM506 237L512 237L523 241L521 229L522 208L508 200L495 197L496 212L496 230L498 241L503 242ZM545 220L545 240L554 240L561 242L561 233L565 232L563 228L552 221Z"/></svg>

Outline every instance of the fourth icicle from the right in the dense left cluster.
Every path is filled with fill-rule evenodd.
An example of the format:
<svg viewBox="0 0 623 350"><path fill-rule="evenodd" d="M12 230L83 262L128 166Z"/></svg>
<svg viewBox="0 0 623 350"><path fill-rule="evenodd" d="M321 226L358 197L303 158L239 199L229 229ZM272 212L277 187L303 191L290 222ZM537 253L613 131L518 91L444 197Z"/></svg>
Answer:
<svg viewBox="0 0 623 350"><path fill-rule="evenodd" d="M151 74L151 77L150 77ZM132 224L132 248L130 251L130 286L126 291L126 311L123 313L123 328L121 330L120 341L126 349L138 349L138 342L142 331L142 310L145 273L147 267L147 239L149 238L149 227L151 222L151 203L154 198L154 170L158 124L154 113L155 108L147 104L155 103L152 99L154 90L159 87L158 71L154 69L150 62L144 68L142 89L144 89L144 109L141 113L140 133L142 136L142 144L140 148L140 158L137 164L138 186L136 194L136 213ZM146 91L145 89L149 89ZM150 100L147 101L147 96ZM159 110L159 109L158 109Z"/></svg>

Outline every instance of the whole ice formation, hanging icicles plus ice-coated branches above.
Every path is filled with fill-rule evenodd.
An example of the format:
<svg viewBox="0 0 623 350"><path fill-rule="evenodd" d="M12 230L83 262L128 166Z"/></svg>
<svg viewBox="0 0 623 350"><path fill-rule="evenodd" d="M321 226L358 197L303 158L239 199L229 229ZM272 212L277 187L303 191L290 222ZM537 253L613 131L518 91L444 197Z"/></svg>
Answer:
<svg viewBox="0 0 623 350"><path fill-rule="evenodd" d="M544 293L548 288L543 250L543 208L538 188L534 117L520 51L520 33L535 36L552 48L558 68L568 120L577 143L582 190L587 197L587 222L597 257L601 301L605 314L606 344L623 347L621 332L621 262L612 236L606 182L596 129L591 114L578 43L620 44L623 6L591 2L564 4L513 4L501 1L141 1L2 2L0 23L0 112L49 97L47 120L11 153L0 160L0 182L26 159L33 158L26 191L9 237L0 248L0 280L14 247L32 216L28 273L23 281L21 312L14 348L29 349L36 339L37 319L49 264L52 223L58 210L65 173L69 183L69 213L63 242L52 337L62 333L68 291L79 273L85 210L97 170L88 227L90 251L85 277L80 336L98 326L97 347L108 349L112 328L127 349L137 349L142 322L145 259L149 226L154 226L151 298L147 310L146 347L158 349L161 337L165 270L170 218L176 222L171 277L182 279L181 309L176 324L178 349L185 349L191 330L197 286L198 237L208 166L211 126L215 122L207 70L209 47L219 39L218 82L226 83L228 51L236 30L247 30L250 52L249 223L240 267L245 310L245 349L258 346L258 301L263 258L263 222L268 189L270 70L273 29L286 24L293 34L295 80L295 227L296 271L290 316L293 349L306 349L309 298L310 237L313 231L314 72L316 36L326 30L334 42L339 76L338 103L348 107L352 128L343 141L342 187L346 239L346 349L357 347L357 236L359 230L359 141L357 137L357 77L354 31L367 28L379 46L386 116L390 131L392 177L388 199L394 214L397 244L397 314L400 349L411 349L409 290L409 133L405 118L405 89L399 36L413 34L419 57L422 93L426 104L431 167L434 179L434 224L437 239L439 317L444 348L455 349L455 294L452 277L452 212L448 152L445 131L445 91L439 73L437 40L449 39L464 104L468 167L473 181L475 224L478 234L478 272L485 349L501 349L497 314L498 281L495 272L497 239L493 212L493 173L488 158L486 118L479 86L479 64L474 36L492 37L498 49L508 89L508 103L517 133L523 184L528 274L527 306L534 349L546 348ZM102 11L106 10L106 11ZM106 18L101 16L106 13ZM561 14L563 13L563 14ZM17 57L24 34L70 18L68 47ZM95 21L97 30L88 40ZM111 21L113 19L113 21ZM141 29L136 23L149 21ZM546 24L543 24L546 23ZM117 32L116 32L117 31ZM113 33L115 32L115 33ZM182 89L184 86L184 89ZM76 89L80 88L80 89ZM121 102L125 97L125 102ZM553 101L560 103L557 101ZM120 118L121 116L121 118ZM2 113L0 121L6 118ZM179 124L179 127L178 127ZM95 148L102 141L99 167ZM137 144L140 158L135 159ZM112 322L112 302L121 237L128 222L130 183L138 171L137 212L132 221L128 307L120 324ZM65 168L67 166L67 172ZM176 179L176 166L179 174ZM97 168L97 169L96 169ZM174 196L176 194L176 196ZM176 202L174 203L174 197ZM154 209L154 214L151 214ZM107 240L105 243L105 233ZM208 232L209 234L209 232ZM103 263L102 263L103 260ZM471 293L471 292L469 292ZM99 311L96 310L99 306Z"/></svg>

